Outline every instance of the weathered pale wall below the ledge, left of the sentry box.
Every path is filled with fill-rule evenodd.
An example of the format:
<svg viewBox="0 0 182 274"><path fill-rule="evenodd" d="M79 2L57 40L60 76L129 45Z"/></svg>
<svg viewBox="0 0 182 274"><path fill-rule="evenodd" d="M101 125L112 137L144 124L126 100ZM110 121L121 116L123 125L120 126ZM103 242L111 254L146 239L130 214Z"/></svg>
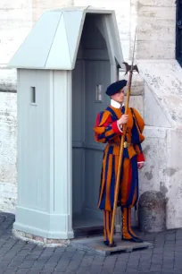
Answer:
<svg viewBox="0 0 182 274"><path fill-rule="evenodd" d="M13 211L17 199L16 93L0 92L0 210Z"/></svg>

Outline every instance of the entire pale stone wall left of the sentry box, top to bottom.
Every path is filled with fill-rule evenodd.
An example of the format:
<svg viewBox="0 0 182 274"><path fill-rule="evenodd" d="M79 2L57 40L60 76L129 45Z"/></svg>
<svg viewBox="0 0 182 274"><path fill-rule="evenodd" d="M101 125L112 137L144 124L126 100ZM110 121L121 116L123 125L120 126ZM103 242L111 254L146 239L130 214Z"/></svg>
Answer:
<svg viewBox="0 0 182 274"><path fill-rule="evenodd" d="M17 200L17 75L5 65L46 9L70 4L71 0L0 1L0 210L14 211Z"/></svg>

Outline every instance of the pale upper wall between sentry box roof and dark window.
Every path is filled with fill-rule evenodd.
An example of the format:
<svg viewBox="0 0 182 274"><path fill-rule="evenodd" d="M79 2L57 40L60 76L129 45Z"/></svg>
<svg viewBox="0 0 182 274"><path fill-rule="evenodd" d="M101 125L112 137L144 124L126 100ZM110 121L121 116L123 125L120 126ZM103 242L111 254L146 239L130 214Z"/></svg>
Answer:
<svg viewBox="0 0 182 274"><path fill-rule="evenodd" d="M74 0L74 5L114 9L124 58L132 56L136 33L136 59L175 58L175 0ZM157 50L156 50L157 49Z"/></svg>

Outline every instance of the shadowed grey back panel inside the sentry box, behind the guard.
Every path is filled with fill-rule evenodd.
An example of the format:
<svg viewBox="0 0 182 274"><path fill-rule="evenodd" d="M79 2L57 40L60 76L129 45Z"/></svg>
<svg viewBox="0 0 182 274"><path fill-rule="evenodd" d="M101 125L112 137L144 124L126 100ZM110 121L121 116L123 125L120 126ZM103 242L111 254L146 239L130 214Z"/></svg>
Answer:
<svg viewBox="0 0 182 274"><path fill-rule="evenodd" d="M92 77L91 77L92 75ZM111 82L111 67L109 61L86 62L86 125L85 125L85 150L86 150L86 176L84 211L96 216L103 212L97 210L98 192L100 186L101 164L103 150L97 150L94 139L93 127L98 112L110 104L110 98L105 95L105 90ZM103 85L103 102L95 102L96 84ZM92 145L92 146L90 146ZM104 149L104 144L100 148ZM97 212L95 212L97 211Z"/></svg>

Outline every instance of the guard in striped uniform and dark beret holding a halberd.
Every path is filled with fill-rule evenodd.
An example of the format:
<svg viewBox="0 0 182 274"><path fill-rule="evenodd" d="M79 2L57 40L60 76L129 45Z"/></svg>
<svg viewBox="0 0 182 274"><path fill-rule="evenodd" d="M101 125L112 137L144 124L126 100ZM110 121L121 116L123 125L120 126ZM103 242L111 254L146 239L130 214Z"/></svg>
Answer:
<svg viewBox="0 0 182 274"><path fill-rule="evenodd" d="M120 188L117 206L122 212L122 240L143 242L131 228L131 209L138 200L138 169L144 167L145 157L141 143L145 122L135 108L128 107L125 115L124 90L126 80L113 82L106 90L111 105L96 116L95 141L107 143L103 151L103 164L98 208L103 210L103 243L110 245L114 191L120 156L122 127L127 126L123 158L120 169ZM116 244L112 242L112 246Z"/></svg>

